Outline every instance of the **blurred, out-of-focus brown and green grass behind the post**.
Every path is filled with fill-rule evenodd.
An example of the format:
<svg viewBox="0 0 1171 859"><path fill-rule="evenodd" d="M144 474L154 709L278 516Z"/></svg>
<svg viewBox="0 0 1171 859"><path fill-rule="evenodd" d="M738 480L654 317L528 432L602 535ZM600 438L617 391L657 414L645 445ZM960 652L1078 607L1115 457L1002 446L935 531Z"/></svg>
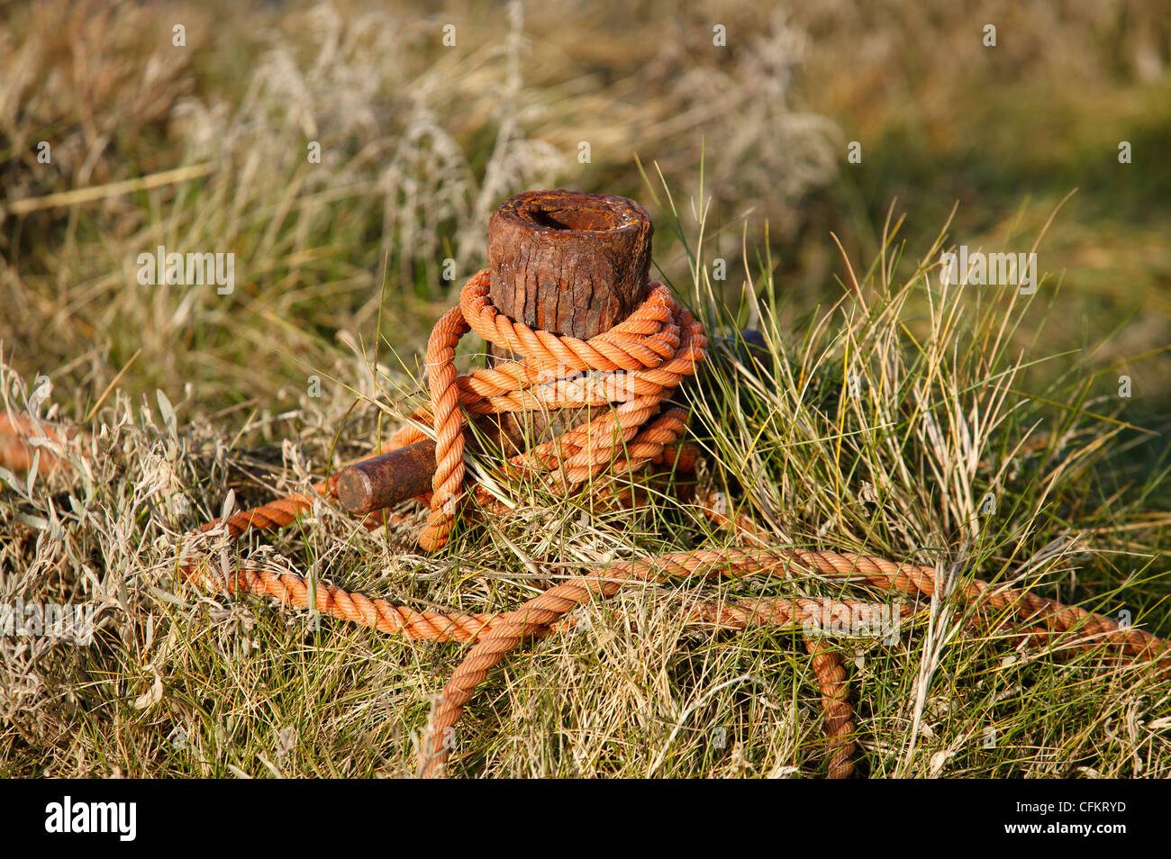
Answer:
<svg viewBox="0 0 1171 859"><path fill-rule="evenodd" d="M502 199L556 185L646 200L637 157L682 201L703 169L708 255L728 260L730 295L747 231L794 318L841 294L830 231L870 260L893 204L915 256L958 201L953 243L1025 250L1076 187L1040 248L1043 291L1061 280L1060 297L1038 302L1040 346L1109 337L1101 358L1123 360L1171 342L1169 9L9 2L5 207L211 172L5 217L0 338L22 372L76 392L81 413L139 349L126 391L177 399L190 383L197 411L279 408L306 387L306 365L355 374L347 344L371 351L381 283L383 334L411 356L482 264ZM981 43L987 22L995 48ZM172 44L178 23L186 47ZM845 160L851 140L861 164ZM235 294L139 287L132 261L159 243L235 253ZM454 283L440 280L446 257ZM678 276L680 246L662 227L656 260ZM1134 411L1165 420L1169 370L1165 355L1129 369Z"/></svg>

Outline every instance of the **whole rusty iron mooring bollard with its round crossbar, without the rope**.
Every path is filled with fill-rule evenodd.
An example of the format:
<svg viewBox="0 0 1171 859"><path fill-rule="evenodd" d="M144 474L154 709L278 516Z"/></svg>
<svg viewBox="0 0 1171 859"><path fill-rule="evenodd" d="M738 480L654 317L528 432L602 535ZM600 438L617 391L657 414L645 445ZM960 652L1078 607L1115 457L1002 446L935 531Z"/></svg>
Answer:
<svg viewBox="0 0 1171 859"><path fill-rule="evenodd" d="M529 191L505 201L488 221L488 296L500 312L533 329L589 339L642 303L653 226L625 197ZM493 360L512 356L491 348ZM479 426L506 452L563 428L557 415L528 412L482 418ZM368 514L431 489L436 445L424 440L341 472L337 495Z"/></svg>

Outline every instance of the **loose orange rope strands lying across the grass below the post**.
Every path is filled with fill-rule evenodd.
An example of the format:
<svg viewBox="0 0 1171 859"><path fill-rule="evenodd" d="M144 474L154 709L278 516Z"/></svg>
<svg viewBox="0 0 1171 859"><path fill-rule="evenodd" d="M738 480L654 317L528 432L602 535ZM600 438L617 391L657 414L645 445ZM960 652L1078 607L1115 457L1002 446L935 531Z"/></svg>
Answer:
<svg viewBox="0 0 1171 859"><path fill-rule="evenodd" d="M319 487L328 492L328 485ZM308 496L293 496L239 513L225 527L237 536L248 527L271 528L292 522L300 513L311 507ZM710 516L723 520L723 499L718 494L701 496L700 502ZM759 531L746 524L744 517L734 523L741 536L759 543ZM204 530L212 525L204 525ZM749 530L749 528L752 530ZM656 570L665 576L686 578L724 570L727 575L767 575L782 571L788 575L793 564L806 570L833 577L864 577L870 584L886 591L898 591L912 597L930 597L937 587L936 570L909 563L896 563L854 552L812 551L804 549L724 549L717 551L692 551L664 555L636 562L624 562L609 569L589 573L557 585L541 596L525 603L520 609L502 614L444 614L418 612L406 606L396 606L385 600L370 600L361 593L350 593L333 585L319 584L315 607L322 613L375 626L385 632L400 633L412 639L439 641L473 641L477 647L468 652L440 694L430 720L430 747L420 753L420 775L441 774L447 758L450 728L454 728L464 707L477 686L501 659L527 639L547 635L557 620L578 604L595 596L614 595L623 584L652 580ZM191 569L191 568L189 568ZM192 569L193 572L193 569ZM241 569L237 582L217 582L204 578L211 586L225 586L228 591L246 590L288 602L290 605L308 607L309 583L293 573L275 573L266 570ZM993 609L1011 612L1020 621L1039 625L1049 633L1078 630L1093 639L1104 638L1117 645L1122 652L1137 658L1167 659L1169 644L1150 633L1124 630L1109 619L1082 609L1064 606L1055 600L1028 591L1008 586L994 586L975 579L964 584L959 592L970 602L982 602ZM767 612L766 612L767 607ZM751 623L813 624L827 626L828 619L836 617L848 623L865 620L872 606L865 603L842 600L774 600L772 603L745 603L738 606L697 606L698 619L718 623L730 628L744 628ZM820 613L819 613L820 612ZM845 612L843 617L843 612ZM482 645L482 647L481 647ZM831 775L848 775L852 769L849 756L854 749L852 719L849 703L844 699L844 669L841 660L831 652L807 640L807 650L814 658L814 669L822 687L826 708L826 733L835 749Z"/></svg>

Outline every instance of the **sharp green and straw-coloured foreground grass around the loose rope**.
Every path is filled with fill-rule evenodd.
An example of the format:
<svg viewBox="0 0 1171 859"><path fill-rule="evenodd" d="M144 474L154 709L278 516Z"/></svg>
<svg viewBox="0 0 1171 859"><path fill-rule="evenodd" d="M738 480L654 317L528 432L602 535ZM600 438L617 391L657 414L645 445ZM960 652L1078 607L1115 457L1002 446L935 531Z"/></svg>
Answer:
<svg viewBox="0 0 1171 859"><path fill-rule="evenodd" d="M667 198L660 201L670 212ZM703 233L701 224L678 228ZM886 247L893 256L893 236ZM718 308L705 323L726 337L742 319L712 301L701 245L692 245L692 255L699 280L677 288L696 307ZM1064 405L1060 389L1015 393L1022 362L1005 343L1022 308L1012 293L940 290L929 270L890 282L886 270L872 267L861 279L863 301L816 311L801 339L758 302L773 289L767 266L749 284L745 311L759 319L772 370L741 363L691 389L711 479L735 487L735 503L778 543L912 557L960 577L1018 580L1104 613L1127 609L1167 633L1156 547L1171 520L1152 517L1146 503L1166 469L1121 492L1109 486L1122 403L1097 404L1096 413L1110 414L1094 418L1086 403ZM913 298L929 302L926 318L906 318ZM9 378L13 386L19 382ZM32 693L43 696L40 707L8 716L6 774L410 774L429 696L460 647L410 644L331 619L317 625L306 612L174 580L180 531L218 513L226 487L244 503L303 485L295 447L274 468L239 453L217 458L212 431L200 444L189 431L159 427L145 411L135 419L122 398L101 414L122 425L121 453L97 442L109 453L94 460L93 495L64 472L29 497L6 495L13 538L6 562L16 572L8 584L26 593L54 589L60 584L47 570L75 563L100 575L91 590L73 585L74 599L107 600L94 647L26 652L8 662L44 687ZM362 438L371 420L371 410L359 408L349 438ZM1038 434L1042 445L1015 452ZM172 489L189 513L167 510ZM997 493L989 515L979 511L986 492ZM410 528L367 534L322 508L287 534L245 540L226 557L313 569L417 607L499 611L541 582L607 558L730 540L670 487L652 494L649 508L604 515L536 486L513 497L515 515L492 529L466 524L436 556L416 552ZM59 520L68 536L37 534L32 516ZM689 580L631 587L590 606L584 631L542 641L497 672L461 724L453 771L816 775L820 707L796 631L733 634L683 623L687 600L700 595L781 596L794 586L822 596L841 587L817 579ZM967 628L966 614L961 603L941 599L920 609L893 646L835 641L851 665L862 771L1167 774L1165 728L1151 727L1171 692L1165 676L1109 652L1019 652L1004 631ZM918 724L913 743L911 724ZM721 730L724 748L715 740Z"/></svg>

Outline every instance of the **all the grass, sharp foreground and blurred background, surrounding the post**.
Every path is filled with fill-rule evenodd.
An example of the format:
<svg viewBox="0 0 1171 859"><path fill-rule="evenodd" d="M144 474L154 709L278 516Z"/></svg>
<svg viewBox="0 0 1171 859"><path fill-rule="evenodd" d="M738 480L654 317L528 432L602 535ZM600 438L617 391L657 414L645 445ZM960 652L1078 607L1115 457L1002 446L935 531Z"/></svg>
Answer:
<svg viewBox="0 0 1171 859"><path fill-rule="evenodd" d="M69 468L0 474L0 603L93 603L100 630L85 647L0 638L0 775L413 771L460 647L194 592L176 558L225 503L302 488L395 425L430 325L482 264L487 215L528 187L641 199L659 276L708 331L765 334L769 369L691 396L712 479L778 542L1016 580L1171 634L1171 16L898 9L6 7L0 392L94 435L90 456L57 451ZM178 167L199 176L109 187ZM87 187L105 191L43 199ZM1041 288L945 289L940 235L1036 242ZM234 253L234 291L138 286L158 245ZM504 610L611 558L732 541L655 497L614 514L519 487L513 517L434 556L408 508L367 532L322 507L215 551ZM823 772L799 631L680 619L699 595L793 587L679 582L591 606L587 630L497 672L452 771ZM940 600L893 646L834 639L860 771L1171 775L1165 676L964 620Z"/></svg>

